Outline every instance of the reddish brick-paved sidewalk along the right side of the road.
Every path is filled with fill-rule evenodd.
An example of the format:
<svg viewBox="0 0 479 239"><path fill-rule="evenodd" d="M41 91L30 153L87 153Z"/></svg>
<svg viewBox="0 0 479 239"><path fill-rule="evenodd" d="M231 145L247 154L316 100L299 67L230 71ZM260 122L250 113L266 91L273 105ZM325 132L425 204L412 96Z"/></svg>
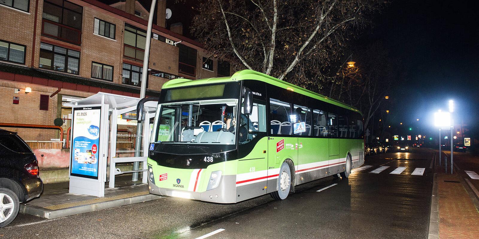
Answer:
<svg viewBox="0 0 479 239"><path fill-rule="evenodd" d="M442 157L444 159L444 154ZM461 176L462 170L457 172L455 168L454 174L450 171L445 173L444 161L440 167L436 160L435 171L439 195L439 238L478 239L479 211L473 203L477 199Z"/></svg>

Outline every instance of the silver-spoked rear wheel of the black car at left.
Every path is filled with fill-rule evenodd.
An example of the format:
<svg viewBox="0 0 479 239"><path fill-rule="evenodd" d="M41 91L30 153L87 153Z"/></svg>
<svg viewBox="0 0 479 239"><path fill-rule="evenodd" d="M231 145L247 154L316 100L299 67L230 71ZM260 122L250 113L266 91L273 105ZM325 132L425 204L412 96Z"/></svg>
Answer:
<svg viewBox="0 0 479 239"><path fill-rule="evenodd" d="M18 214L20 202L17 194L8 188L0 188L0 228L10 224Z"/></svg>

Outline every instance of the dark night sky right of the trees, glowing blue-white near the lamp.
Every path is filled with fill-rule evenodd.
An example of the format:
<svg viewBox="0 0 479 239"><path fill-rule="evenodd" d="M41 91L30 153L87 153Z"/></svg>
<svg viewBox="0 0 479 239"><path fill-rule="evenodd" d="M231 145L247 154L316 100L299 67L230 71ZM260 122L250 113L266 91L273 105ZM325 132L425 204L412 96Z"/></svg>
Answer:
<svg viewBox="0 0 479 239"><path fill-rule="evenodd" d="M478 126L477 9L478 1L396 0L374 19L365 37L385 42L405 71L390 94L391 124L433 129L433 112L453 99L455 122Z"/></svg>

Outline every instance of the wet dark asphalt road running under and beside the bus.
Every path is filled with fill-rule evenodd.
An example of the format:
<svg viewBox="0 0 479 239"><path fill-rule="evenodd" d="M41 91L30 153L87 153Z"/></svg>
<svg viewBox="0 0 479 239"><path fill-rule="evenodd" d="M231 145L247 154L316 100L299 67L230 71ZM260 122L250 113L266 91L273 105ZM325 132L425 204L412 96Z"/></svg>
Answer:
<svg viewBox="0 0 479 239"><path fill-rule="evenodd" d="M217 232L208 239L426 239L433 155L415 149L368 156L371 167L349 179L306 183L283 201L269 195L234 205L161 198L52 220L20 214L0 229L0 238L195 239Z"/></svg>

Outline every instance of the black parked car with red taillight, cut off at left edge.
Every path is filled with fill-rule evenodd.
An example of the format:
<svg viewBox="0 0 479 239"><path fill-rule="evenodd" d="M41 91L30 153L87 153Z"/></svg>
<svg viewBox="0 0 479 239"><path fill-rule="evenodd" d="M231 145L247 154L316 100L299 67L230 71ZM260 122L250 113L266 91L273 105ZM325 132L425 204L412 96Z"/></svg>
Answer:
<svg viewBox="0 0 479 239"><path fill-rule="evenodd" d="M18 214L20 202L43 192L36 157L17 133L0 129L0 228Z"/></svg>

